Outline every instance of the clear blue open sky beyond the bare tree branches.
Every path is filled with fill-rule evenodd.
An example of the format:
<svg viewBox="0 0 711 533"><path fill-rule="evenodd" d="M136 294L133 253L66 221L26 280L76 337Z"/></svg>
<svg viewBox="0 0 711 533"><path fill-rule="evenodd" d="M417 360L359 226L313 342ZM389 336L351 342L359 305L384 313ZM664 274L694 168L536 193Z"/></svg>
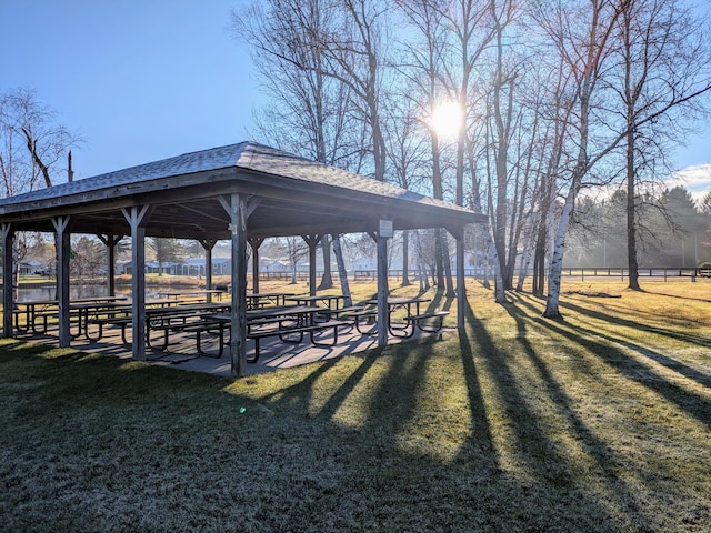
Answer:
<svg viewBox="0 0 711 533"><path fill-rule="evenodd" d="M0 92L37 91L87 145L76 178L248 139L260 103L228 29L243 0L0 0ZM678 153L711 163L711 125ZM687 174L711 190L711 170ZM695 178L694 178L695 177Z"/></svg>

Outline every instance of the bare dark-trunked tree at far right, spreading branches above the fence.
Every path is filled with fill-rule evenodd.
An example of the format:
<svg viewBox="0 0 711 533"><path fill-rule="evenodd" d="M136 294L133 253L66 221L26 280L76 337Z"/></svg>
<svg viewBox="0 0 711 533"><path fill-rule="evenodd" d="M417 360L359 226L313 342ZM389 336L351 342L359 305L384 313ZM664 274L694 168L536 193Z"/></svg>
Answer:
<svg viewBox="0 0 711 533"><path fill-rule="evenodd" d="M627 0L619 19L619 88L625 128L629 288L640 290L637 191L643 175L670 173L665 155L698 117L698 95L711 89L703 24L678 0ZM692 98L689 98L692 97ZM683 113L685 121L677 120ZM652 118L652 120L648 120Z"/></svg>

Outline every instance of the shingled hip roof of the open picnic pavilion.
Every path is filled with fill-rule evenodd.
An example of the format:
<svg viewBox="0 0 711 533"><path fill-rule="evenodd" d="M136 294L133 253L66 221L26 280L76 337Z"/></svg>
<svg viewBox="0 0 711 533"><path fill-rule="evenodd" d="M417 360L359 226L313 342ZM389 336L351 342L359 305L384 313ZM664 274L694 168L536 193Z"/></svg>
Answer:
<svg viewBox="0 0 711 533"><path fill-rule="evenodd" d="M53 231L69 217L72 233L129 234L122 210L150 205L149 237L228 239L221 198L250 200L249 237L460 228L482 214L415 192L308 161L254 142L186 153L0 200L0 222Z"/></svg>

